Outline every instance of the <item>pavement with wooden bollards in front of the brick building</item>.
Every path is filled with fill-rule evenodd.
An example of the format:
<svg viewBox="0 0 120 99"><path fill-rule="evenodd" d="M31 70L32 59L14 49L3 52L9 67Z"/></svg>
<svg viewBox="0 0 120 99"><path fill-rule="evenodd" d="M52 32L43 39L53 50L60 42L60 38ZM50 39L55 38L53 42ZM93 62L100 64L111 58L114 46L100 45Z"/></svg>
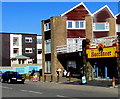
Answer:
<svg viewBox="0 0 120 99"><path fill-rule="evenodd" d="M27 82L33 82L33 81L29 81L26 79ZM51 82L50 77L47 77L46 81L44 82L43 78L41 79L41 81L38 82L42 82L42 83L52 83L52 84L61 84L61 85L70 85L70 86L94 86L94 87L111 87L112 88L112 81L111 80L90 80L88 81L86 84L82 84L81 80L78 78L66 78L66 77L60 77L59 82L57 81L57 78L53 79L53 81ZM116 85L116 87L118 87L118 85Z"/></svg>

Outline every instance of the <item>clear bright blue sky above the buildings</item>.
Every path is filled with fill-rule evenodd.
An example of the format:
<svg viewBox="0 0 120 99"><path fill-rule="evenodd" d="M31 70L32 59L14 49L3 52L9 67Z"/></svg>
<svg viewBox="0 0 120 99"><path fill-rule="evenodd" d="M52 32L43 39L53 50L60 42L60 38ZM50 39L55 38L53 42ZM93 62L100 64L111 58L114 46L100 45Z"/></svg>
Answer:
<svg viewBox="0 0 120 99"><path fill-rule="evenodd" d="M41 35L41 21L60 16L80 2L2 2L2 32ZM84 2L91 13L108 5L118 14L118 2Z"/></svg>

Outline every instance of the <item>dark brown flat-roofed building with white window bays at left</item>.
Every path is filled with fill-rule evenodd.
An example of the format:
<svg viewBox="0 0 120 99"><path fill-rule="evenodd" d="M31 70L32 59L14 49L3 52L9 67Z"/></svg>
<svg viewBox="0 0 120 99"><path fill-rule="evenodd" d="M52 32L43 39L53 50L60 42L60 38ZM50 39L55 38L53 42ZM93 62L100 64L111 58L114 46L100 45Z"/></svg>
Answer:
<svg viewBox="0 0 120 99"><path fill-rule="evenodd" d="M37 34L0 33L0 36L2 38L0 66L37 64Z"/></svg>

